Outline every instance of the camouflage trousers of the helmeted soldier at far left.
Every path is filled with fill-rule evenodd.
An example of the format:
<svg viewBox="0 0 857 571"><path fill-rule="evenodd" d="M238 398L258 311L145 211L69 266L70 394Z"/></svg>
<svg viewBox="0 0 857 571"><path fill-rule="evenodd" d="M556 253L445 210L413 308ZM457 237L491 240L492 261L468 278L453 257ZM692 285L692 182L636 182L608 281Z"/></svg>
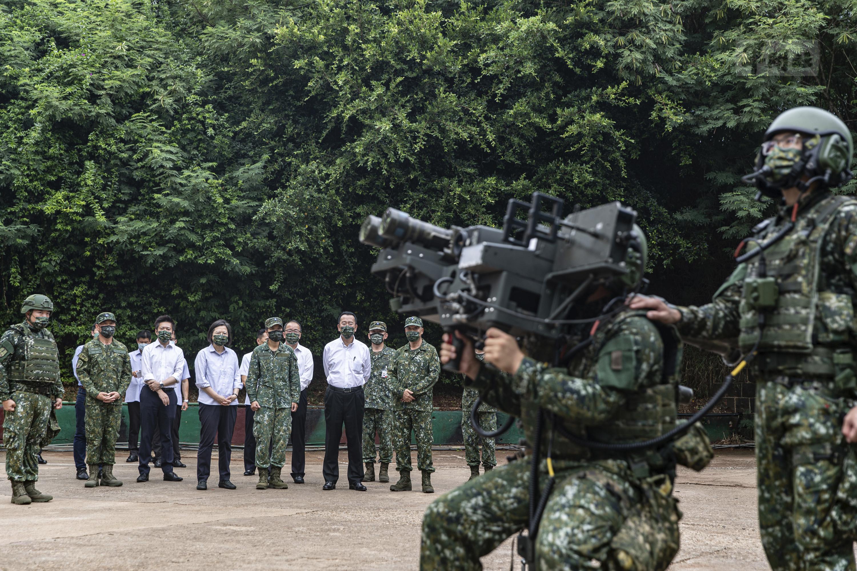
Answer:
<svg viewBox="0 0 857 571"><path fill-rule="evenodd" d="M6 476L14 482L39 479L36 456L48 430L53 401L50 396L23 390L11 394L15 411L3 418L3 443L6 446Z"/></svg>

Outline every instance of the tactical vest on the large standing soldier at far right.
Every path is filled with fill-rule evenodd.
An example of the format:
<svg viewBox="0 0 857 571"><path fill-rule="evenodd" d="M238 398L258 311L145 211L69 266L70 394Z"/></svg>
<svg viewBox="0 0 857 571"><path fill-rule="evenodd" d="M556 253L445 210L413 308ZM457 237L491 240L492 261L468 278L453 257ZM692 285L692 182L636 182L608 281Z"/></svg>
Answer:
<svg viewBox="0 0 857 571"><path fill-rule="evenodd" d="M811 205L780 241L746 262L740 300L743 353L758 342L760 372L854 380L854 306L848 294L818 291L821 247L836 211L857 201L830 196ZM750 247L782 230L770 218L759 224ZM757 243L754 243L757 242ZM759 313L764 324L759 326ZM846 381L845 378L840 379Z"/></svg>

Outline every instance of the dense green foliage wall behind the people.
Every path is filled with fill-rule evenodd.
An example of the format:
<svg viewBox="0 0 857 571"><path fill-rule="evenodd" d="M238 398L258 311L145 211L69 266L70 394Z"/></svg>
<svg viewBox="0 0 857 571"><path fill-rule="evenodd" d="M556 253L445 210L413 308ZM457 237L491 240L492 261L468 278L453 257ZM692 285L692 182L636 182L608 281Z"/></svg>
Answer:
<svg viewBox="0 0 857 571"><path fill-rule="evenodd" d="M320 349L342 308L397 322L367 214L498 224L534 190L632 205L656 292L704 300L764 213L766 124L857 121L855 27L844 0L4 0L0 318L49 294L69 354L100 311L123 341L170 312L192 353L280 314Z"/></svg>

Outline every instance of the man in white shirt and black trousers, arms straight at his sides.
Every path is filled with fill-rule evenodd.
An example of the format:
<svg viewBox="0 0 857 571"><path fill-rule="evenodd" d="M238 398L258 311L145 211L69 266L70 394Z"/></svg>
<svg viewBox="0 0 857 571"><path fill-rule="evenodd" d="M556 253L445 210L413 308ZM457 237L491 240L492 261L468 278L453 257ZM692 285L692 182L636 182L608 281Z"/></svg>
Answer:
<svg viewBox="0 0 857 571"><path fill-rule="evenodd" d="M363 479L363 385L372 374L369 348L357 341L357 316L342 312L337 320L339 337L327 343L321 361L327 377L324 397L325 484L322 490L334 490L339 479L339 439L345 424L348 439L348 487L366 491Z"/></svg>

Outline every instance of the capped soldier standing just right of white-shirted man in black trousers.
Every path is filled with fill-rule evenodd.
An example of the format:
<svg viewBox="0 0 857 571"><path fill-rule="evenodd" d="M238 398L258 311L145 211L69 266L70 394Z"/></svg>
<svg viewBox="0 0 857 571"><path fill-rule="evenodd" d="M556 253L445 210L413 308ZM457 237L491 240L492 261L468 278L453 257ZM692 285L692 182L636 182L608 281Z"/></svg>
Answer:
<svg viewBox="0 0 857 571"><path fill-rule="evenodd" d="M372 361L372 376L363 385L366 404L363 408L363 462L366 464L363 482L375 481L375 432L381 449L378 451L381 470L379 482L389 482L387 468L393 460L393 411L391 410L392 387L396 386L396 351L387 347L387 324L373 321L369 324L369 341L372 348L369 359Z"/></svg>

